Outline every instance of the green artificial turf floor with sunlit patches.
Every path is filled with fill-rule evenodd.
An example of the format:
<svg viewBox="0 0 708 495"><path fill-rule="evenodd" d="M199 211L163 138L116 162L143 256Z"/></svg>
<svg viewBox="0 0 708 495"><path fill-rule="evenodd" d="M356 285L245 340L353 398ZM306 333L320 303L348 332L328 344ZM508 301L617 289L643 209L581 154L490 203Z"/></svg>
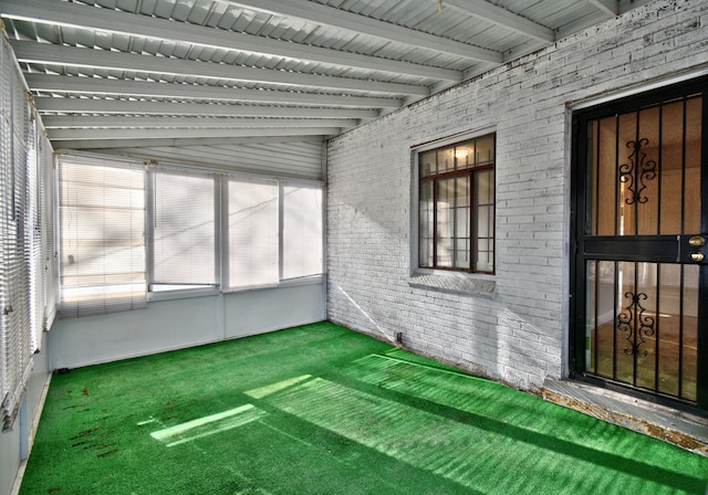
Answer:
<svg viewBox="0 0 708 495"><path fill-rule="evenodd" d="M55 375L30 494L704 495L708 457L330 323Z"/></svg>

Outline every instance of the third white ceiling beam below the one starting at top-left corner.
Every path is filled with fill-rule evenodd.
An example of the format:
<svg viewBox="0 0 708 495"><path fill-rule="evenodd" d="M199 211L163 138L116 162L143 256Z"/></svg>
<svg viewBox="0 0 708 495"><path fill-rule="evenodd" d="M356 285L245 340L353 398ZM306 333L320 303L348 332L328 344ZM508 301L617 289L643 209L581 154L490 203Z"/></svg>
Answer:
<svg viewBox="0 0 708 495"><path fill-rule="evenodd" d="M303 118L375 118L378 110L357 108L319 108L309 106L227 105L184 102L139 102L121 99L58 98L35 96L40 113L191 115L223 117L303 117ZM46 118L46 117L44 117Z"/></svg>

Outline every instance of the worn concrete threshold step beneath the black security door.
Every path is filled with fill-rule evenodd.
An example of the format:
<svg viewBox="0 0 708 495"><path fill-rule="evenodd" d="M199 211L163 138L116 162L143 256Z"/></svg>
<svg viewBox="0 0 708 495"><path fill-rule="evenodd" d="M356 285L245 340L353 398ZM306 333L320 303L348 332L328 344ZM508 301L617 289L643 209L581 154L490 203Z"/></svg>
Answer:
<svg viewBox="0 0 708 495"><path fill-rule="evenodd" d="M708 419L623 393L566 380L545 380L543 399L708 456Z"/></svg>

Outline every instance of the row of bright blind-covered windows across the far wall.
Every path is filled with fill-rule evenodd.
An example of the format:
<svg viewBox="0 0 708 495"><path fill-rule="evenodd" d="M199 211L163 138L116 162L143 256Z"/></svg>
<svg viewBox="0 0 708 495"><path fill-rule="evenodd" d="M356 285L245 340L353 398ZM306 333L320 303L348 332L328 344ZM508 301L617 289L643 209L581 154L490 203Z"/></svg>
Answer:
<svg viewBox="0 0 708 495"><path fill-rule="evenodd" d="M322 274L317 182L62 157L60 192L62 316Z"/></svg>

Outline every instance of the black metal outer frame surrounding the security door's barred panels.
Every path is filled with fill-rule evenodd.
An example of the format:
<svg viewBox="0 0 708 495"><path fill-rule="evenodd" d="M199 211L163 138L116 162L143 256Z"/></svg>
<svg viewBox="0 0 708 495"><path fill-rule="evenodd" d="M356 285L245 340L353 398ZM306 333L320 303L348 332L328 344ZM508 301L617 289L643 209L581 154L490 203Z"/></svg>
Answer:
<svg viewBox="0 0 708 495"><path fill-rule="evenodd" d="M570 378L574 380L585 381L628 396L708 417L708 266L701 267L698 282L697 403L665 396L660 392L635 388L585 372L585 261L587 256L584 244L584 219L587 208L587 166L585 164L587 143L586 123L587 120L600 117L638 110L644 106L696 93L702 93L700 230L701 232L708 232L708 76L667 85L662 88L602 103L597 106L573 113L571 149L569 371ZM673 242L675 243L676 241L674 240Z"/></svg>

